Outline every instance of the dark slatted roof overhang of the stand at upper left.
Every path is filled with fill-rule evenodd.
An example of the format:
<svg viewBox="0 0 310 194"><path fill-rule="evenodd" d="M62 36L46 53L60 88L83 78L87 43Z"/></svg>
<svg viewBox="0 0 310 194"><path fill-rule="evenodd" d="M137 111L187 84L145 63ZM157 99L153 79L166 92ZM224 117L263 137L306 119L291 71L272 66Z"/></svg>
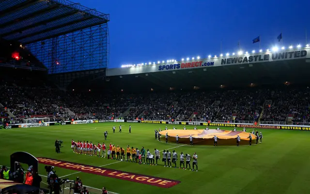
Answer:
<svg viewBox="0 0 310 194"><path fill-rule="evenodd" d="M108 14L68 0L0 0L0 38L22 44L108 21Z"/></svg>

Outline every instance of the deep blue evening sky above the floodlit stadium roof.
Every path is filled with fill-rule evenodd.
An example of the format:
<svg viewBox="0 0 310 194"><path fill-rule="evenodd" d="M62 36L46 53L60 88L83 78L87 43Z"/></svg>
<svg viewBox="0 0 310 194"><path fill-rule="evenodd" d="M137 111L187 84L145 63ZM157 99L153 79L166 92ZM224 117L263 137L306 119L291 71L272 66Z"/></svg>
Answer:
<svg viewBox="0 0 310 194"><path fill-rule="evenodd" d="M109 68L306 44L310 0L73 0L110 14ZM308 38L310 40L310 36Z"/></svg>

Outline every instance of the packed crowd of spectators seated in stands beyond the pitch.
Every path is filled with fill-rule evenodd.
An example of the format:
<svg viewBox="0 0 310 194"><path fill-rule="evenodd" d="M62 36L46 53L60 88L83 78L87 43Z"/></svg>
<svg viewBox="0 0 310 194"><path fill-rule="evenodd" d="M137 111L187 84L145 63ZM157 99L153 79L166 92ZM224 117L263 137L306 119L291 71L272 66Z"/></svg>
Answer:
<svg viewBox="0 0 310 194"><path fill-rule="evenodd" d="M294 122L310 122L308 88L105 95L1 84L0 91L1 121L11 123L38 115L51 121L143 118L253 123L260 119L273 123L285 122L288 114L293 114Z"/></svg>

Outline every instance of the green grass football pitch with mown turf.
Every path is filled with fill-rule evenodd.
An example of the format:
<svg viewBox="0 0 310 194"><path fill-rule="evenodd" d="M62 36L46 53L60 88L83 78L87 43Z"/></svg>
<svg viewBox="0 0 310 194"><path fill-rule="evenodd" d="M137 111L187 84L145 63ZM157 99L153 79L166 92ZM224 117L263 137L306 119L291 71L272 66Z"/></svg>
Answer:
<svg viewBox="0 0 310 194"><path fill-rule="evenodd" d="M118 125L123 125L118 133ZM62 125L37 128L19 128L0 131L0 165L10 164L10 155L16 151L26 151L35 157L79 164L102 166L104 168L181 181L171 188L160 188L137 182L109 178L75 170L55 167L59 177L75 179L80 177L84 185L93 188L105 186L108 191L118 194L306 194L310 182L310 132L294 130L260 129L263 143L253 146L193 146L166 144L155 140L154 129L165 128L161 124L130 123L132 133L128 133L129 123L95 123ZM116 126L115 134L112 126ZM168 125L172 128L171 125ZM177 126L183 128L183 126ZM203 127L198 127L203 129ZM232 130L233 128L224 128ZM108 131L105 141L103 132ZM238 128L238 131L241 131ZM56 139L63 141L61 153L55 152ZM179 168L118 162L94 156L75 154L71 149L71 139L105 142L125 148L143 146L154 152L174 149L198 155L198 172ZM164 140L164 139L162 139ZM255 142L255 140L254 140ZM220 140L219 140L220 145ZM179 161L177 161L179 165ZM39 164L39 174L46 176L45 164ZM27 166L24 166L27 168ZM43 182L46 178L43 177ZM45 187L44 183L41 186ZM93 193L100 193L93 190Z"/></svg>

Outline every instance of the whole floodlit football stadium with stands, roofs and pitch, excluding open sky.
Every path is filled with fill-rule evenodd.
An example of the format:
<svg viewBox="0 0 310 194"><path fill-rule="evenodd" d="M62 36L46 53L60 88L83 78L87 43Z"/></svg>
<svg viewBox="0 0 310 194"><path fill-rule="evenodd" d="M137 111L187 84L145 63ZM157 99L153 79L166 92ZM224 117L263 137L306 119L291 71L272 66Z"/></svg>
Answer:
<svg viewBox="0 0 310 194"><path fill-rule="evenodd" d="M0 1L1 194L309 192L308 44L108 68L109 21Z"/></svg>

